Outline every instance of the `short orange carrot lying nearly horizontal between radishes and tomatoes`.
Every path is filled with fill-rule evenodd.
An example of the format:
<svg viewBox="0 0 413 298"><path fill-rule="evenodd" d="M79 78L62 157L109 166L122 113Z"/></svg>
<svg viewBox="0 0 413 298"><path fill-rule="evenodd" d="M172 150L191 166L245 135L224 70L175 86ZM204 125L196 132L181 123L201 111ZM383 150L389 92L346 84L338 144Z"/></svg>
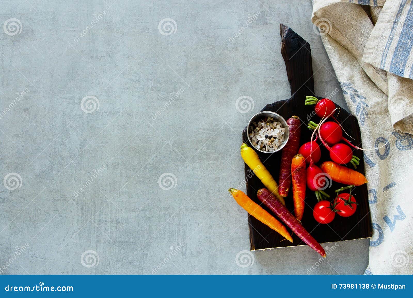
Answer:
<svg viewBox="0 0 413 298"><path fill-rule="evenodd" d="M354 171L335 162L323 162L320 166L323 172L330 175L332 181L347 185L362 185L367 183L366 177L358 171Z"/></svg>

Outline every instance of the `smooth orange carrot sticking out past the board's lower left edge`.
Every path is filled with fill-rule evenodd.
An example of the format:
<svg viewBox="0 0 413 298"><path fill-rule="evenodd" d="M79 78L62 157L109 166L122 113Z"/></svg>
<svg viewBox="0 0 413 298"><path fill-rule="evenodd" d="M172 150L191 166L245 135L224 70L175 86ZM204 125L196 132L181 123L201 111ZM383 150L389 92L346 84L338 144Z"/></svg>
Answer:
<svg viewBox="0 0 413 298"><path fill-rule="evenodd" d="M287 231L285 226L277 221L274 216L262 209L259 204L250 199L246 194L244 194L244 192L235 188L230 188L228 191L231 195L233 195L235 201L237 201L237 203L250 215L261 221L261 223L268 225L268 227L270 227L274 231L280 233L280 235L288 241L292 242L291 235Z"/></svg>

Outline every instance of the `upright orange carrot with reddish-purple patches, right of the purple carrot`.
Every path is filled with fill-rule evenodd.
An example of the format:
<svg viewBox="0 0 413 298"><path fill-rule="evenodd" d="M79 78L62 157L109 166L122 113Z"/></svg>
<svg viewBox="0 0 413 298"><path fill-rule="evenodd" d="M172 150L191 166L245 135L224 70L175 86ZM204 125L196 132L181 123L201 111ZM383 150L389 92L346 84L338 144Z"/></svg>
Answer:
<svg viewBox="0 0 413 298"><path fill-rule="evenodd" d="M292 158L291 178L294 215L301 221L304 214L304 198L306 197L306 160L302 154L297 154Z"/></svg>

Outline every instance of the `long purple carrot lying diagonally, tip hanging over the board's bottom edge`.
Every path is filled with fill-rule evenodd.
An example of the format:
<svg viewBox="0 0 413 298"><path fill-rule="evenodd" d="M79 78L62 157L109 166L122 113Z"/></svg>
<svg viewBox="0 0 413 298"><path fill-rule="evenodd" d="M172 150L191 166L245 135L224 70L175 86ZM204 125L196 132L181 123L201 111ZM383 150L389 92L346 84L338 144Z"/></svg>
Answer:
<svg viewBox="0 0 413 298"><path fill-rule="evenodd" d="M257 192L258 199L263 202L273 213L277 216L308 246L325 257L323 247L304 229L301 223L295 218L290 211L276 199L269 190L261 188ZM333 212L334 213L334 212Z"/></svg>

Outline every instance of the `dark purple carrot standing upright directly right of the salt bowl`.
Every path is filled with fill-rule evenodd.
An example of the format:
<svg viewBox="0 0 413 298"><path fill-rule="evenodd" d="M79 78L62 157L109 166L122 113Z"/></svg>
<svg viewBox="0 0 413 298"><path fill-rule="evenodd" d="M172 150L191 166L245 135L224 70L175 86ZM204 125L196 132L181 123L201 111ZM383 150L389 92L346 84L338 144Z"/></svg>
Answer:
<svg viewBox="0 0 413 298"><path fill-rule="evenodd" d="M287 120L290 129L290 138L281 152L280 181L278 183L278 193L281 197L287 197L291 186L291 161L297 154L300 146L301 121L297 116L292 116Z"/></svg>

